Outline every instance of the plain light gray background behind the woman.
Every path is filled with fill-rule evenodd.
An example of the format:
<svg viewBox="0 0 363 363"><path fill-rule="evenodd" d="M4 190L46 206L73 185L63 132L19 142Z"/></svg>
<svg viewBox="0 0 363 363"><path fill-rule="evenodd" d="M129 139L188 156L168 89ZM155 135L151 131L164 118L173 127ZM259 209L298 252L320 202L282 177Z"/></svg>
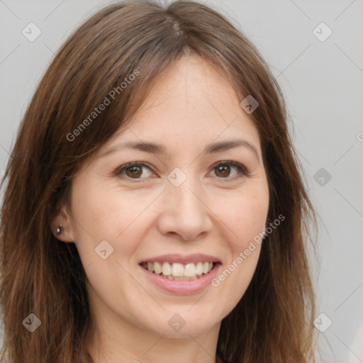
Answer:
<svg viewBox="0 0 363 363"><path fill-rule="evenodd" d="M110 3L0 0L1 175L53 52L79 23ZM312 262L318 314L324 314L316 324L326 330L318 333L318 362L363 362L363 1L206 4L232 18L262 52L294 120L294 143L320 215L318 257ZM33 42L22 34L30 22L42 31ZM321 22L333 31L325 41L313 33ZM321 38L328 29L316 32Z"/></svg>

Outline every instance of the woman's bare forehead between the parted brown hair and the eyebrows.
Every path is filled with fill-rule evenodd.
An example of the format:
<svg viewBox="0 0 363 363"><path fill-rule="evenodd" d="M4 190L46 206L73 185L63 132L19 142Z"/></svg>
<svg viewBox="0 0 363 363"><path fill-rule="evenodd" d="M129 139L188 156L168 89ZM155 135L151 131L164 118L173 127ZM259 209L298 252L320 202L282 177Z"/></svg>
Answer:
<svg viewBox="0 0 363 363"><path fill-rule="evenodd" d="M259 140L257 128L225 75L197 55L182 57L157 77L128 125L136 137L164 141L180 135L180 141L211 143L218 135L236 134Z"/></svg>

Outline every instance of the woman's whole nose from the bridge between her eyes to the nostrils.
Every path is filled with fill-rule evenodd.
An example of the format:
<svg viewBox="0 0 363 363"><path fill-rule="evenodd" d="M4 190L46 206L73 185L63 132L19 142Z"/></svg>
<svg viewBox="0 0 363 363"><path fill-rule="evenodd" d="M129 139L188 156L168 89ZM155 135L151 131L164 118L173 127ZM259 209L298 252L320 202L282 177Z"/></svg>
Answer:
<svg viewBox="0 0 363 363"><path fill-rule="evenodd" d="M199 179L192 168L176 168L168 175L159 228L162 233L178 233L184 240L211 230L212 222Z"/></svg>

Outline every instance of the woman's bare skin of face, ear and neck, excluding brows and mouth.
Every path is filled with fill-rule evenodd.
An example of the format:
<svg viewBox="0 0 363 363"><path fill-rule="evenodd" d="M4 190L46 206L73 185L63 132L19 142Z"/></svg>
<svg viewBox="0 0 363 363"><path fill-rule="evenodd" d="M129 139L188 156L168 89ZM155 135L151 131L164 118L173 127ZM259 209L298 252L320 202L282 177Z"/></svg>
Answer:
<svg viewBox="0 0 363 363"><path fill-rule="evenodd" d="M80 168L69 200L52 223L74 242L86 270L96 334L89 342L95 362L216 362L220 322L250 284L260 248L218 287L196 294L163 291L145 277L139 262L164 254L204 253L220 259L219 272L262 233L269 207L267 176L257 128L240 107L230 84L215 67L186 56L158 78L155 88L126 130L117 133ZM209 143L243 139L257 156L239 146L210 155ZM117 150L124 141L164 145L167 155ZM231 166L238 162L250 175ZM140 174L116 175L127 162L144 162ZM186 179L174 186L167 176L178 167ZM141 174L142 172L142 174ZM232 180L233 177L240 176ZM108 241L102 259L95 248ZM184 327L168 320L179 313Z"/></svg>

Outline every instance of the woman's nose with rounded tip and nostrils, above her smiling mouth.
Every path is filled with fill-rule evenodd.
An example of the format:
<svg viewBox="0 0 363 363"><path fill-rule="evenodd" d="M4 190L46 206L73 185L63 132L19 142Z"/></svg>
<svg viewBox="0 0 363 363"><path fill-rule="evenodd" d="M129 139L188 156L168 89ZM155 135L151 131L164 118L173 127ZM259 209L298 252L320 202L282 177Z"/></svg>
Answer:
<svg viewBox="0 0 363 363"><path fill-rule="evenodd" d="M179 235L183 240L196 240L211 231L211 210L206 194L188 177L180 186L168 182L163 193L162 212L157 221L163 235Z"/></svg>

